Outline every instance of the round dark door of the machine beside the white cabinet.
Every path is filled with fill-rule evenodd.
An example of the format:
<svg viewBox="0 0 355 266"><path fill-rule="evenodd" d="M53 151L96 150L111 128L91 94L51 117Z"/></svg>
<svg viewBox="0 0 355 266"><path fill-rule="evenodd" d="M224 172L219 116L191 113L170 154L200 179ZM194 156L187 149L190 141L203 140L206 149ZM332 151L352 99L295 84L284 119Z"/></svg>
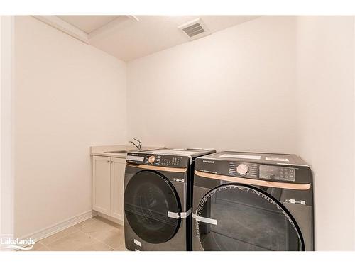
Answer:
<svg viewBox="0 0 355 266"><path fill-rule="evenodd" d="M126 219L134 233L148 243L164 243L173 238L180 226L180 211L178 194L163 174L138 172L126 186Z"/></svg>

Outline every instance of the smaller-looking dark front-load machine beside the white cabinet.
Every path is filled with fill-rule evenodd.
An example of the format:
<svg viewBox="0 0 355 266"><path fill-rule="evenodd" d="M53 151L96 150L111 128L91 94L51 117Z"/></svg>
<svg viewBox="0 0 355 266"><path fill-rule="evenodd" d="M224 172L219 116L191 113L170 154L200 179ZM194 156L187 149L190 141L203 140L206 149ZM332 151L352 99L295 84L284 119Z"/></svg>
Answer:
<svg viewBox="0 0 355 266"><path fill-rule="evenodd" d="M191 250L192 178L204 149L128 153L124 238L129 250Z"/></svg>

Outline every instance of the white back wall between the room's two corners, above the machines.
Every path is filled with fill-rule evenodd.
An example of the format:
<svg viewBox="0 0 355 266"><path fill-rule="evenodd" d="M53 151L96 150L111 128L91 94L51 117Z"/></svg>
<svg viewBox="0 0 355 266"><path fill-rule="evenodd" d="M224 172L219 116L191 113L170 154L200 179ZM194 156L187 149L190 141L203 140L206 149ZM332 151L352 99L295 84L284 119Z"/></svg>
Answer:
<svg viewBox="0 0 355 266"><path fill-rule="evenodd" d="M262 17L128 63L128 137L295 152L295 18Z"/></svg>

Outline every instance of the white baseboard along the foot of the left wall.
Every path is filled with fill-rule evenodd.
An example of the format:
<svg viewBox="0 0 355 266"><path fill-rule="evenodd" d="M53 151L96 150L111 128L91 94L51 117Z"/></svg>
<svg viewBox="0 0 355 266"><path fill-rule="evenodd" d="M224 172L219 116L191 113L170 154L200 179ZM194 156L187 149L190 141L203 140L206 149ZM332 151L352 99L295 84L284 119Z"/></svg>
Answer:
<svg viewBox="0 0 355 266"><path fill-rule="evenodd" d="M47 228L43 228L41 230L35 231L34 233L24 235L20 239L32 238L35 240L35 242L38 242L39 240L41 240L43 238L48 238L48 236L50 236L50 235L58 233L59 231L69 228L70 226L74 226L75 224L81 223L82 221L85 221L85 220L92 218L94 216L97 216L96 211L92 211L92 210L85 211L82 214L72 216L71 218L69 218L65 221L61 221L60 223L56 223L53 226L48 226Z"/></svg>

